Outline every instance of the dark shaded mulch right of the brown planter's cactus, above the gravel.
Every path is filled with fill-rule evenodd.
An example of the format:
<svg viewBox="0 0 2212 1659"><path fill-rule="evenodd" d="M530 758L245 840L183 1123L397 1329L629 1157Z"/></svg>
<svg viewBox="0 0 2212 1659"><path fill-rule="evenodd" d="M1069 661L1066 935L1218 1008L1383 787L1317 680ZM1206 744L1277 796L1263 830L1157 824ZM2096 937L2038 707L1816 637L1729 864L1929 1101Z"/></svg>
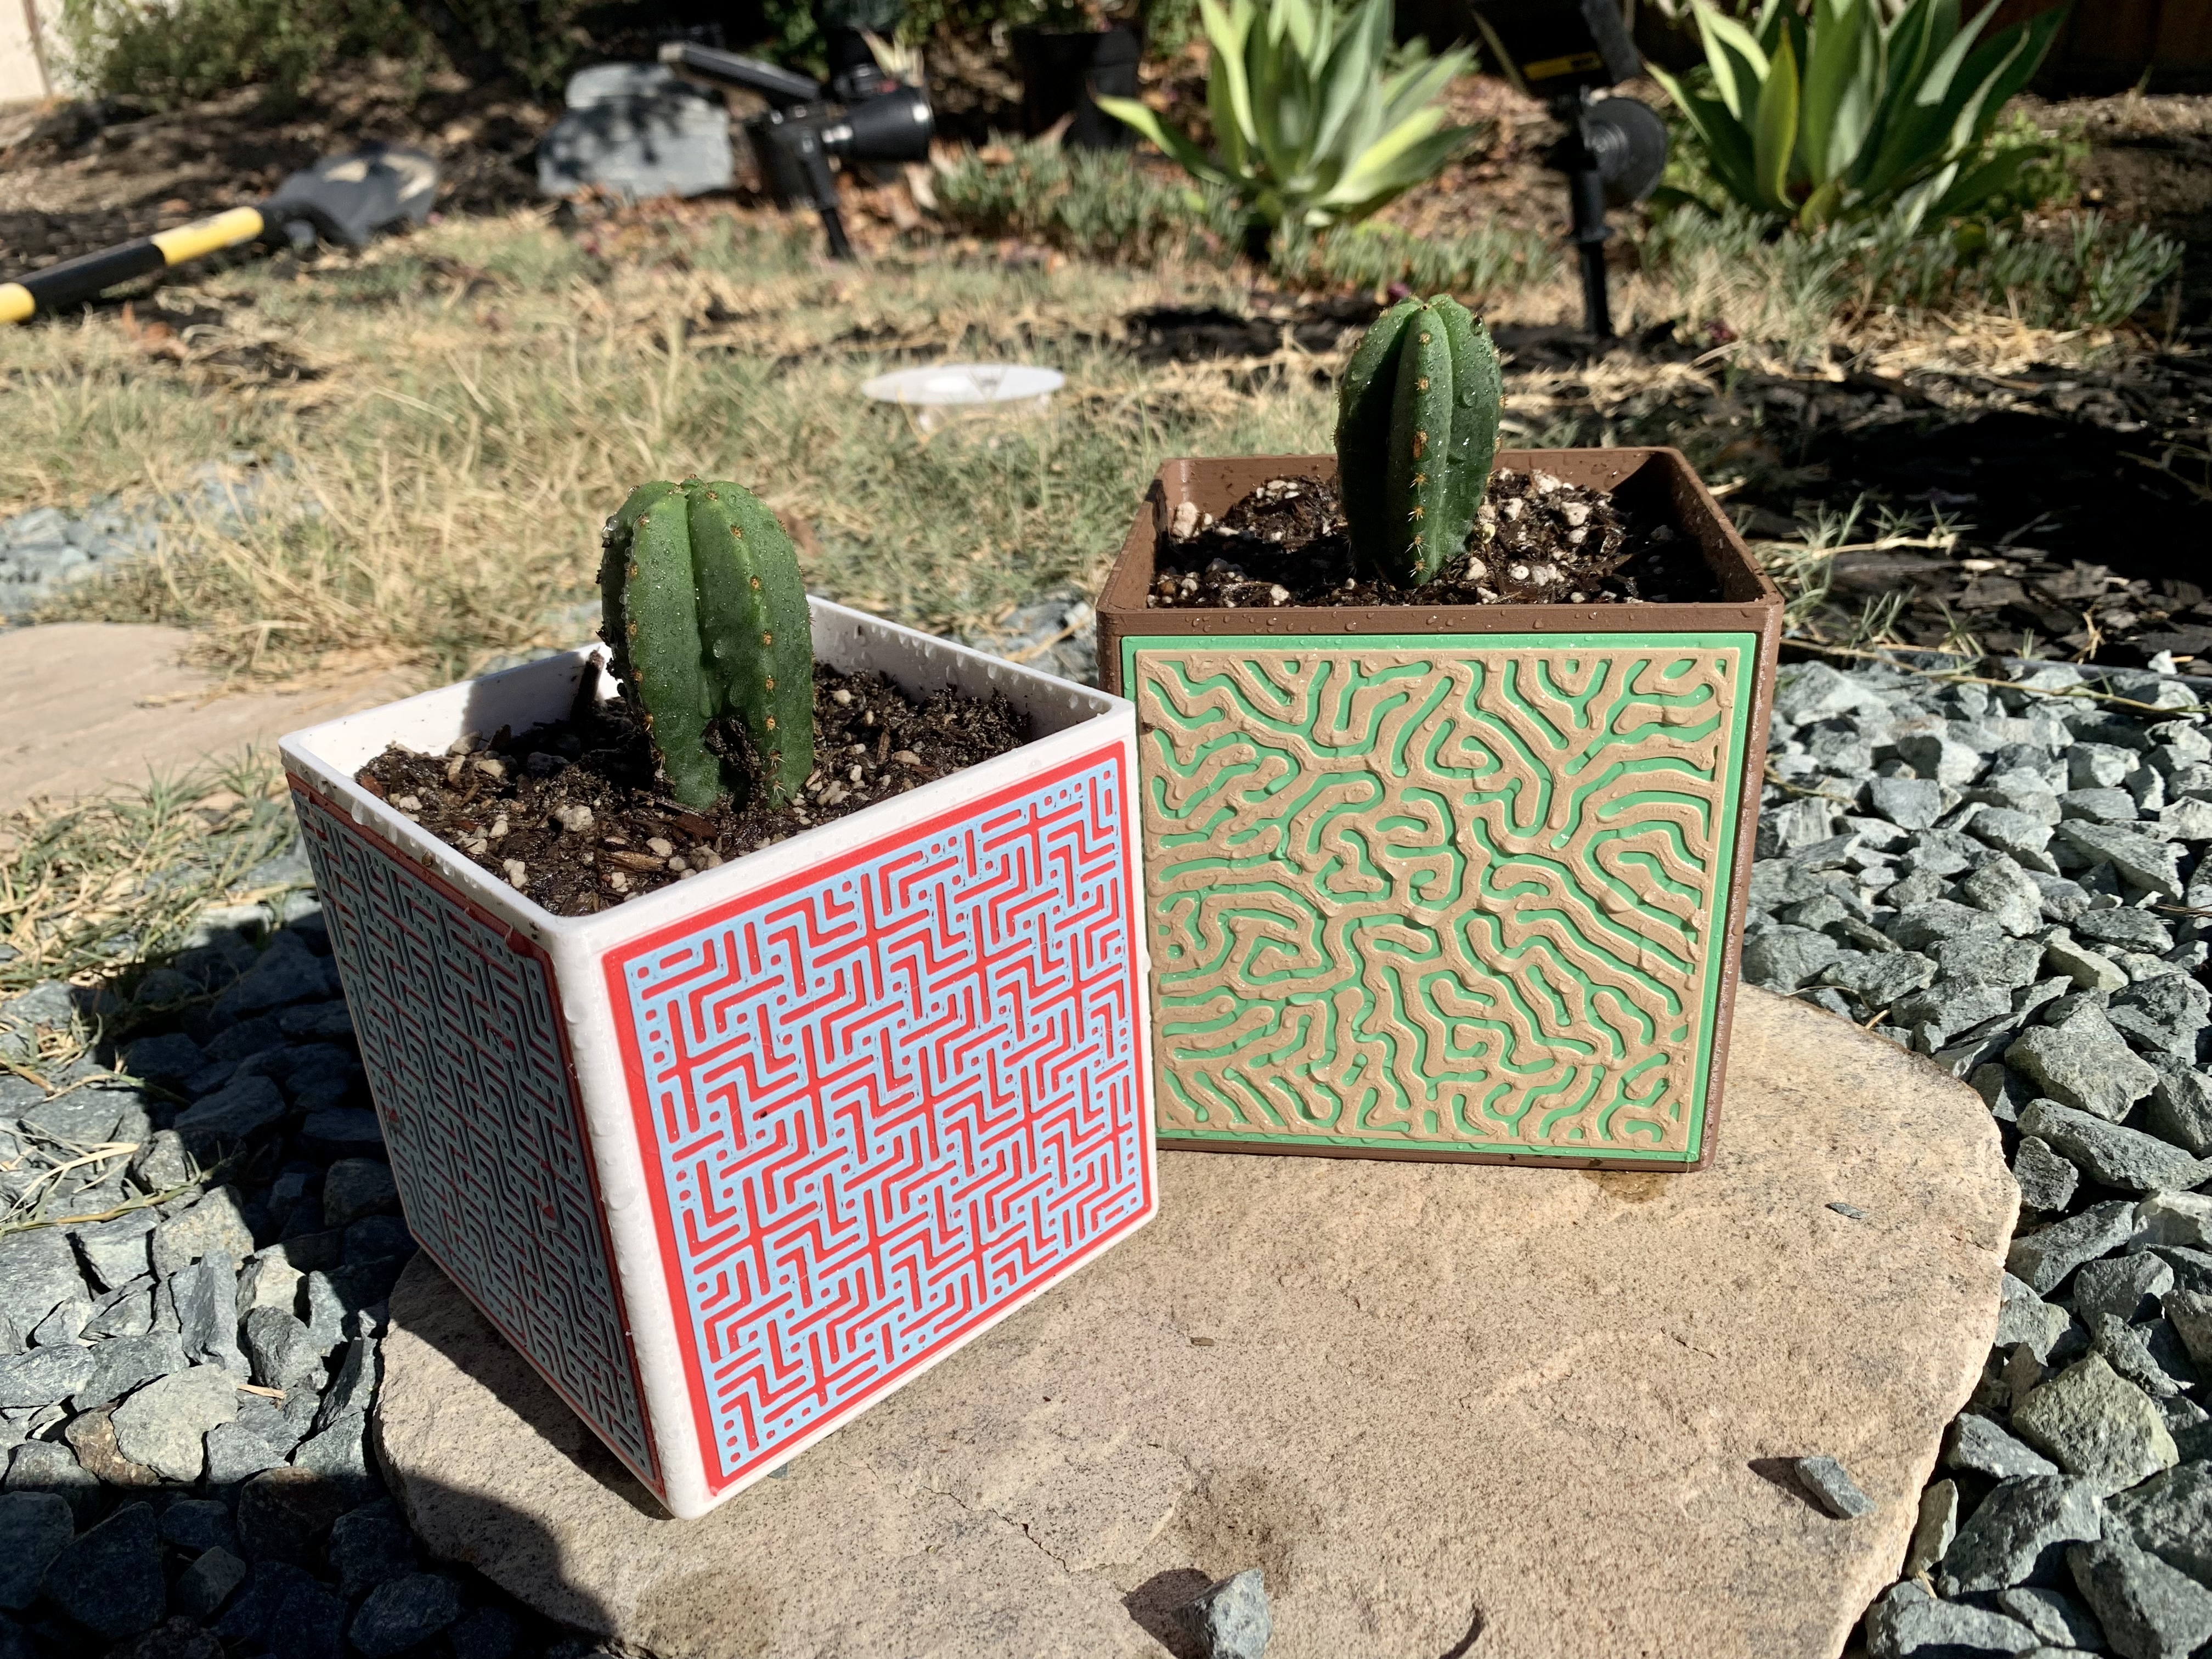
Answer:
<svg viewBox="0 0 2212 1659"><path fill-rule="evenodd" d="M1606 356L1559 327L1498 343L1509 442L1679 445L1778 557L1825 515L1796 568L1825 595L1794 606L1820 641L1865 644L1874 606L1905 646L2212 666L2212 330L2095 365L1936 343L1834 378L1705 365L1672 327Z"/></svg>

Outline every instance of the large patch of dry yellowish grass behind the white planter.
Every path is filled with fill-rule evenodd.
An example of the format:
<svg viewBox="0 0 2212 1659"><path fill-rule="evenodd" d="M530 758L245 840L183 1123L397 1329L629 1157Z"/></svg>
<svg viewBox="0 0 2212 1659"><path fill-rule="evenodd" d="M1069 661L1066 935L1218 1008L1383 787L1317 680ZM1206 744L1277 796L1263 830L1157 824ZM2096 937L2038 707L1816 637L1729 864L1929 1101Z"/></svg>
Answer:
<svg viewBox="0 0 2212 1659"><path fill-rule="evenodd" d="M816 261L816 234L637 219L595 237L602 261L533 215L458 221L173 290L223 312L181 336L115 314L13 330L0 511L283 456L292 511L188 522L64 613L197 628L234 675L438 684L586 633L599 524L646 478L737 478L792 524L814 591L949 628L1093 584L1166 456L1327 442L1327 387L1281 354L1119 349L1130 312L1239 303L1221 272L854 270ZM1042 361L1068 389L1044 418L936 434L856 392L942 356Z"/></svg>

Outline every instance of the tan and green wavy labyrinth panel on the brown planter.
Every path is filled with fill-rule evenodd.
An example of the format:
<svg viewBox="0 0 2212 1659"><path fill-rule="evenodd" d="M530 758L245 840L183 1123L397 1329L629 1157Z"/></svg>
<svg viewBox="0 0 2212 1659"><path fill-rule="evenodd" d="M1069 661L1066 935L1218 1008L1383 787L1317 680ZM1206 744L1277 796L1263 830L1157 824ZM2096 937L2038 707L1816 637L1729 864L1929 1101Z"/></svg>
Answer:
<svg viewBox="0 0 2212 1659"><path fill-rule="evenodd" d="M1750 635L1124 646L1168 1141L1699 1155Z"/></svg>

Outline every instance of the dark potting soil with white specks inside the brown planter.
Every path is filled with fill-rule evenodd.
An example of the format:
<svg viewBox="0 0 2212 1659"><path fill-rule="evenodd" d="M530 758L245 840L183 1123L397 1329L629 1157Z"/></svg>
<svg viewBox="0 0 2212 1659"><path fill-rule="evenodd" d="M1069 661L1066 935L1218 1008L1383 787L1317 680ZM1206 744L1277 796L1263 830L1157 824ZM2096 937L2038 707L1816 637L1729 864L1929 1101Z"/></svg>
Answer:
<svg viewBox="0 0 2212 1659"><path fill-rule="evenodd" d="M1694 604L1721 597L1697 544L1604 489L1498 471L1469 549L1398 588L1356 568L1334 480L1270 478L1219 520L1192 502L1159 538L1155 611L1347 604Z"/></svg>

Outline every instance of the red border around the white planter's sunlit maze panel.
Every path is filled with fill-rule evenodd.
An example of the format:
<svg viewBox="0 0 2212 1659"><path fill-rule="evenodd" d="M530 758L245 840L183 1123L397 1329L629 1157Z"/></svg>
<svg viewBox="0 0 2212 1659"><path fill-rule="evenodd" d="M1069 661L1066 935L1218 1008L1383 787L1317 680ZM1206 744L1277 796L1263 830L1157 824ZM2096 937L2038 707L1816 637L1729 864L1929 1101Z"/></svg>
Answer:
<svg viewBox="0 0 2212 1659"><path fill-rule="evenodd" d="M681 1263L677 1261L677 1252L670 1248L670 1241L675 1239L675 1212L672 1212L672 1208L668 1203L668 1186L666 1186L666 1181L661 1177L659 1135L655 1133L655 1126L653 1126L653 1099L650 1099L650 1091L646 1086L644 1046L637 1040L637 1024L630 1018L630 993L628 993L628 989L624 984L624 969L630 962L635 962L639 956L646 956L646 953L650 953L650 951L655 951L655 949L659 949L664 945L670 945L670 942L675 942L679 938L688 938L690 933L697 933L703 927L714 927L717 922L728 920L730 916L734 916L739 911L754 909L759 905L772 905L774 900L785 898L787 894L792 894L792 891L796 891L801 887L812 887L814 883L818 883L818 880L823 880L827 876L836 876L838 872L849 869L849 867L854 867L858 863L867 863L869 858L878 858L880 854L885 854L889 849L896 849L896 847L900 847L900 845L905 845L909 841L936 834L938 830L945 830L947 825L960 823L960 821L971 818L971 816L975 816L980 812L991 812L993 807L1006 805L1009 801L1015 801L1020 796L1035 794L1037 790L1046 790L1053 783L1060 783L1062 779L1073 776L1077 772L1088 772L1099 761L1110 761L1113 763L1115 785L1121 792L1121 812L1124 812L1121 889L1128 894L1128 905L1130 905L1130 911L1128 911L1128 925L1130 925L1130 942L1128 942L1130 1026L1133 1026L1135 1035L1139 1037L1139 1044L1137 1044L1139 1053L1135 1055L1135 1064L1130 1066L1130 1077L1135 1082L1135 1106L1137 1106L1139 1133L1146 1139L1150 1139L1152 1137L1152 1104L1150 1104L1150 1095L1148 1095L1150 1077L1148 1077L1146 1053L1144 1053L1146 1051L1146 1044L1144 1044L1144 973L1139 971L1139 949L1137 949L1137 945L1139 945L1137 929L1144 927L1144 894L1137 889L1137 847L1135 847L1135 832L1130 830L1130 825L1135 825L1135 801L1130 799L1130 792L1128 792L1128 781L1130 781L1133 768L1130 768L1128 754L1126 754L1126 750L1124 750L1124 745L1119 741L1108 743L1102 750L1091 750L1088 754L1079 754L1079 757L1075 757L1075 759L1071 759L1071 761L1066 761L1062 765L1055 765L1048 772L1040 772L1037 776L1020 779L1018 783L1009 783L1004 790L995 790L993 794L978 796L973 801L962 801L960 805L947 807L945 812L940 812L940 814L936 814L931 818L920 818L920 821L907 825L905 830L896 830L891 834L878 836L876 841L865 841L865 843L847 849L836 863L821 863L821 865L810 865L805 869L799 869L792 876L785 876L783 880L774 883L772 887L754 889L750 894L732 898L728 905L719 905L719 907L714 907L710 911L699 911L697 916L690 916L690 918L686 918L681 922L670 922L668 927L661 927L655 933L646 933L641 938L635 938L628 945L622 945L622 947L608 951L602 958L602 971L606 973L606 991L608 991L608 1002L613 1004L615 1029L622 1033L622 1075L624 1075L624 1082L628 1084L628 1091L630 1091L630 1115L633 1115L633 1119L637 1124L637 1152L639 1152L639 1161L646 1168L646 1186L653 1192L653 1214L655 1214L655 1221L659 1223L661 1267L664 1267L664 1274L668 1279L668 1307L670 1307L672 1323L677 1327L677 1340L684 1347L684 1374L686 1374L684 1380L690 1387L692 1427L695 1427L695 1431L699 1436L699 1469L701 1469L701 1473L708 1475L708 1480L706 1480L708 1495L719 1498L721 1493L730 1491L732 1486L737 1486L739 1482L743 1482L754 1471L759 1471L759 1469L763 1469L768 1464L774 1464L774 1462L783 1462L783 1460L792 1458L794 1453L790 1449L763 1451L757 1458L752 1458L750 1462L741 1464L739 1469L723 1471L721 1442L714 1436L714 1407L712 1407L712 1402L708 1400L708 1394L706 1394L706 1371L703 1371L703 1367L699 1363L699 1345L697 1345L697 1338L692 1334L692 1321L690 1321L690 1312L688 1312L688 1298L684 1296L684 1270L681 1270ZM1024 1292L1018 1303L1013 1303L1009 1307L995 1307L995 1310L978 1312L975 1318L971 1318L967 1325L962 1325L949 1338L945 1338L942 1343L938 1343L936 1347L931 1347L927 1354L916 1354L914 1358L909 1358L898 1369L887 1371L863 1400L856 1400L856 1402L847 1405L830 1422L825 1422L818 1429L810 1431L810 1436L805 1436L805 1438L814 1440L814 1438L818 1438L823 1433L830 1433L841 1422L849 1420L854 1411L863 1409L872 1400L883 1398L883 1394L887 1389L891 1389L900 1378L909 1376L911 1371L916 1371L920 1367L929 1367L929 1365L942 1360L945 1356L953 1354L969 1338L973 1338L975 1334L980 1334L984 1327L989 1327L995 1321L1004 1318L1006 1314L1015 1312L1015 1307L1020 1307L1022 1303L1031 1301L1033 1296L1040 1296L1046 1290L1051 1290L1053 1285L1057 1285L1071 1272L1075 1272L1086 1261L1091 1261L1102 1250L1106 1250L1110 1243L1115 1243L1117 1239L1121 1239L1121 1234L1130 1232L1133 1228L1144 1225L1152 1217L1152 1212L1159 1208L1159 1194L1157 1194L1155 1183L1152 1183L1152 1148L1150 1146L1146 1146L1146 1157L1141 1161L1141 1181L1144 1181L1144 1203L1139 1206L1139 1210L1133 1217L1128 1217L1126 1221L1121 1221L1119 1225L1115 1225L1110 1232L1104 1232L1097 1239L1093 1239L1091 1245L1086 1245L1082 1252L1077 1252L1066 1263L1062 1263L1057 1272L1053 1272L1048 1279L1040 1281L1029 1292ZM708 1473L708 1471L723 1471L723 1473L717 1478L714 1473Z"/></svg>

